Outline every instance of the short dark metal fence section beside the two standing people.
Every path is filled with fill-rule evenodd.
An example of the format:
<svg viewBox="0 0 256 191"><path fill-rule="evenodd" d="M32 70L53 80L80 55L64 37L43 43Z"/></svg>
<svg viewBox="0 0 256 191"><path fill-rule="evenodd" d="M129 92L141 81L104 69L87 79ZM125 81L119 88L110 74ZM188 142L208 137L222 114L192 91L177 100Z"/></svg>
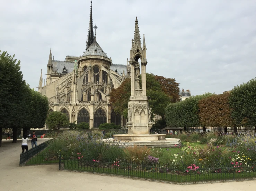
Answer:
<svg viewBox="0 0 256 191"><path fill-rule="evenodd" d="M37 157L38 153L41 153L45 148L47 147L47 141L38 144L37 147L31 148L28 151L24 153L20 153L19 157L19 165L24 165L26 162L28 162L29 159L37 159L38 162L41 162L41 158Z"/></svg>

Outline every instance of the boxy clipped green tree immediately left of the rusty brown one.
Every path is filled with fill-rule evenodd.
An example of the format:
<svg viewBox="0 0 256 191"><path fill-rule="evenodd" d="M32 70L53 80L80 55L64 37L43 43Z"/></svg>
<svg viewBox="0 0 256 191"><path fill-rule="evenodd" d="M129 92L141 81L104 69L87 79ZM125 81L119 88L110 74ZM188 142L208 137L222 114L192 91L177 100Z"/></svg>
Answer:
<svg viewBox="0 0 256 191"><path fill-rule="evenodd" d="M212 93L205 93L202 95L192 96L189 99L177 103L170 103L165 109L166 123L170 127L203 127L205 126L199 121L199 107L198 101L211 96Z"/></svg>

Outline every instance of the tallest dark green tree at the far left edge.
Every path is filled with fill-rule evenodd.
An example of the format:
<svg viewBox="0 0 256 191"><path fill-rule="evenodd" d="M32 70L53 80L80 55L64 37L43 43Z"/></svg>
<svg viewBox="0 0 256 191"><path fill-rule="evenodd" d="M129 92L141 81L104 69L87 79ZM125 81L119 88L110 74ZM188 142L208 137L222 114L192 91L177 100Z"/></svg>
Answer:
<svg viewBox="0 0 256 191"><path fill-rule="evenodd" d="M23 96L26 82L20 71L20 61L14 59L7 52L0 51L0 146L2 142L2 128L13 128L14 139L17 142L17 128L19 118L23 113ZM17 62L17 63L16 63Z"/></svg>

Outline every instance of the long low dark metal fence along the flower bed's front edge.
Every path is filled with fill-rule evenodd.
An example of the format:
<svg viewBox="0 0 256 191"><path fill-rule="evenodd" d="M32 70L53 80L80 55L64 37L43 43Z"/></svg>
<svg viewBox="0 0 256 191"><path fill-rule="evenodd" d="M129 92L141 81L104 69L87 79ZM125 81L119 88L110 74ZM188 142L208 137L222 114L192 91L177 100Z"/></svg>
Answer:
<svg viewBox="0 0 256 191"><path fill-rule="evenodd" d="M255 165L250 167L227 167L217 169L172 169L168 165L148 166L119 162L85 161L66 159L60 155L59 170L72 170L100 174L112 174L176 184L223 182L256 179Z"/></svg>

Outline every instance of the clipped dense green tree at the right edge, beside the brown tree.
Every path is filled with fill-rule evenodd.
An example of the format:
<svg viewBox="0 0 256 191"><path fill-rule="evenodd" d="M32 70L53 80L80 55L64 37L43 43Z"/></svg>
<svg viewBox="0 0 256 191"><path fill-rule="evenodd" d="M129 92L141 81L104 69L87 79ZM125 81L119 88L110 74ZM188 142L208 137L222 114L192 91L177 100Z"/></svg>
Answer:
<svg viewBox="0 0 256 191"><path fill-rule="evenodd" d="M255 127L256 130L256 78L236 86L230 92L231 116L236 125Z"/></svg>

